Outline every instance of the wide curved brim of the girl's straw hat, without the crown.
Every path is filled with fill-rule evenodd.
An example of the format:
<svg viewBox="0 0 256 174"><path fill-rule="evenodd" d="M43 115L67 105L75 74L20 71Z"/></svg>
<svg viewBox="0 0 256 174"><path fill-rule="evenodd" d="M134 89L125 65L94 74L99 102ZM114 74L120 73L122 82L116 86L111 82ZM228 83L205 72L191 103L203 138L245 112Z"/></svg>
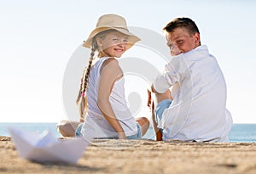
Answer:
<svg viewBox="0 0 256 174"><path fill-rule="evenodd" d="M83 46L85 48L90 48L91 47L91 43L93 40L93 37L96 36L97 34L99 34L102 31L108 31L108 30L115 30L115 31L119 31L120 33L123 33L127 36L129 36L128 39L128 48L131 48L136 42L140 41L141 39L135 35L133 35L130 31L127 31L123 28L114 28L114 27L109 27L109 26L104 26L104 27L98 27L95 30L91 31L90 36L88 37L88 39L84 42Z"/></svg>

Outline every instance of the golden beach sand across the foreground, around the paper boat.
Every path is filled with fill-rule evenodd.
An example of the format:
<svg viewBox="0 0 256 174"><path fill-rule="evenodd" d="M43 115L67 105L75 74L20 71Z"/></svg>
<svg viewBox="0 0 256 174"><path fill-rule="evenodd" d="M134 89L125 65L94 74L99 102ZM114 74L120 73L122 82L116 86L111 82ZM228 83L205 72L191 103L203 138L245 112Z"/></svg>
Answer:
<svg viewBox="0 0 256 174"><path fill-rule="evenodd" d="M65 139L63 140L65 141ZM21 159L0 137L0 173L256 173L256 143L96 140L75 165Z"/></svg>

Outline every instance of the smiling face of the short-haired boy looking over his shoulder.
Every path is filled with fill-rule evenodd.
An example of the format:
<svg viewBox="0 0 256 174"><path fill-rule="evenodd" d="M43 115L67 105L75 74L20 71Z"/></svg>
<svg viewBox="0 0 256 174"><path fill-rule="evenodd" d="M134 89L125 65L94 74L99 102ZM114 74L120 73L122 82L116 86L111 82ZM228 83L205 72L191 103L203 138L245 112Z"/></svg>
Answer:
<svg viewBox="0 0 256 174"><path fill-rule="evenodd" d="M195 33L190 35L186 28L180 27L172 32L166 32L167 45L174 49L177 48L180 53L187 53L200 46L200 35ZM172 53L171 49L171 53Z"/></svg>

